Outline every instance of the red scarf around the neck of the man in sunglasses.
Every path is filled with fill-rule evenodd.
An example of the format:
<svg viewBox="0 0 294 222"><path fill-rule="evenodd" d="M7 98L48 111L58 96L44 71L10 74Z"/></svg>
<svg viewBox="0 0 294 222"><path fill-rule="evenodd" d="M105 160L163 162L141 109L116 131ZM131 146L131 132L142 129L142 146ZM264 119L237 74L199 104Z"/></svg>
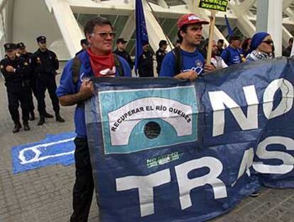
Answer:
<svg viewBox="0 0 294 222"><path fill-rule="evenodd" d="M94 55L91 48L87 50L91 67L95 77L114 77L115 76L115 62L114 55Z"/></svg>

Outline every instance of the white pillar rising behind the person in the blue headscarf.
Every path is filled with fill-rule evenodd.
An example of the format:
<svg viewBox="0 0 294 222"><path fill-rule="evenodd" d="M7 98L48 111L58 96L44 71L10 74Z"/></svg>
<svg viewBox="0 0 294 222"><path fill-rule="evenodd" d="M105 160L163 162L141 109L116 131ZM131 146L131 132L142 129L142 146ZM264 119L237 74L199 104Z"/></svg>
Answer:
<svg viewBox="0 0 294 222"><path fill-rule="evenodd" d="M283 1L258 0L256 31L270 33L275 43L276 56L282 55Z"/></svg>

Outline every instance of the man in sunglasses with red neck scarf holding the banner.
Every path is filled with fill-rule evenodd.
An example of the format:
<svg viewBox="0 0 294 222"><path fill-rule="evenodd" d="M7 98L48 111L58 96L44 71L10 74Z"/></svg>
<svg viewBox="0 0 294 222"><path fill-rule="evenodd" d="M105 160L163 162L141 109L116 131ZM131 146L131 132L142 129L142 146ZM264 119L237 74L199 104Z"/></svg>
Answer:
<svg viewBox="0 0 294 222"><path fill-rule="evenodd" d="M131 77L131 69L124 58L112 53L113 27L107 18L95 17L84 28L90 48L67 62L62 72L57 94L62 106L76 105L75 109L75 186L73 213L70 222L86 222L92 204L94 181L87 143L84 101L94 94L92 77ZM75 61L79 69L73 69ZM119 60L119 64L116 61ZM78 70L77 78L75 71ZM75 81L77 79L77 81Z"/></svg>

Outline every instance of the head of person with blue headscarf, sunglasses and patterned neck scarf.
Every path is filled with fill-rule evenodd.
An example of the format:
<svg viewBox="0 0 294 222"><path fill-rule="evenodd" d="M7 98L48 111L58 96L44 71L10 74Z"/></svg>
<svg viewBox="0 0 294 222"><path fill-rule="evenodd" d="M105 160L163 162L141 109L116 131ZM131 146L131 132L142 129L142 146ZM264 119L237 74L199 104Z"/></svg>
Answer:
<svg viewBox="0 0 294 222"><path fill-rule="evenodd" d="M269 60L273 58L273 40L265 32L255 33L251 39L246 61Z"/></svg>

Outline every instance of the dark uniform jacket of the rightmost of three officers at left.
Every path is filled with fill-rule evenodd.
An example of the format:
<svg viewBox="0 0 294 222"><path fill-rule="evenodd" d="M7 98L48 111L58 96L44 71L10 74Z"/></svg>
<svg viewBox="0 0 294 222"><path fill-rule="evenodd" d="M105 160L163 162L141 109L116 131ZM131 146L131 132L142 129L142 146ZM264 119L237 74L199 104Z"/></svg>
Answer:
<svg viewBox="0 0 294 222"><path fill-rule="evenodd" d="M56 70L59 68L58 57L55 52L38 49L34 53L34 67L37 77L55 77Z"/></svg>

